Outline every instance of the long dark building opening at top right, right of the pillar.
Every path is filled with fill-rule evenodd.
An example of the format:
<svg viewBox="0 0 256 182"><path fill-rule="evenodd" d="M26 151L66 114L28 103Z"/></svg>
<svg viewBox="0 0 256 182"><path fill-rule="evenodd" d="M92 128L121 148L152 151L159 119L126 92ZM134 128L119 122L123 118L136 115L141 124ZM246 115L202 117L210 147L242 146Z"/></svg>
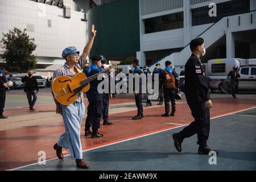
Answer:
<svg viewBox="0 0 256 182"><path fill-rule="evenodd" d="M233 0L217 4L217 16L209 17L208 6L192 9L192 26L218 22L225 16L248 13L250 11L250 0Z"/></svg>

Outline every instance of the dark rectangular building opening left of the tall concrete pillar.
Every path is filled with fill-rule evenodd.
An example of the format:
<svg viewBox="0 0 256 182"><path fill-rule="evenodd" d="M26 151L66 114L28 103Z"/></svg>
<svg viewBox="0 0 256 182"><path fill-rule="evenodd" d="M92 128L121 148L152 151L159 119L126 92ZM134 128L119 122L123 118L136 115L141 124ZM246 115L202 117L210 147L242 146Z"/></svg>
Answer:
<svg viewBox="0 0 256 182"><path fill-rule="evenodd" d="M144 24L145 34L183 28L183 12L148 18Z"/></svg>

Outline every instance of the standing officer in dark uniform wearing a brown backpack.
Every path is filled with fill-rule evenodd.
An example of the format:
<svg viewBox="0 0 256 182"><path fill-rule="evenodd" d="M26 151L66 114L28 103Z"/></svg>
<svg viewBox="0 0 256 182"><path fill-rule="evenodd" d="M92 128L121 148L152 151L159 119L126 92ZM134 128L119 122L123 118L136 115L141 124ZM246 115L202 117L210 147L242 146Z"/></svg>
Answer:
<svg viewBox="0 0 256 182"><path fill-rule="evenodd" d="M164 85L164 81L166 81L166 75L167 73L171 73L174 75L175 78L175 88L166 88ZM163 95L164 95L164 106L165 106L165 113L162 114L162 117L169 117L169 112L170 112L170 101L172 105L172 111L170 116L175 116L176 112L176 103L175 103L175 94L176 92L179 92L179 80L178 80L178 75L175 72L175 70L172 68L172 63L171 61L166 61L166 68L164 69L164 72L162 74L162 78L160 80L163 81L161 85L163 85Z"/></svg>

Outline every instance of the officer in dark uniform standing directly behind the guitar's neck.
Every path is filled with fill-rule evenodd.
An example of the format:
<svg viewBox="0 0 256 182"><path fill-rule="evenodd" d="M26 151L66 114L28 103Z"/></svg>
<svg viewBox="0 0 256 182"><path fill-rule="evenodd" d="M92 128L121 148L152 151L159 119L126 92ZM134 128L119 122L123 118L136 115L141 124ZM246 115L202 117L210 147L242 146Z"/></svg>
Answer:
<svg viewBox="0 0 256 182"><path fill-rule="evenodd" d="M101 65L101 59L101 56L92 57L92 65L87 70L87 77L93 76L100 72L99 67ZM85 136L92 134L92 138L104 137L103 134L98 133L103 110L103 94L98 93L97 89L100 82L101 81L97 79L91 81L90 89L86 93L89 105L87 108L87 117L85 120ZM90 132L90 126L92 126L92 133Z"/></svg>

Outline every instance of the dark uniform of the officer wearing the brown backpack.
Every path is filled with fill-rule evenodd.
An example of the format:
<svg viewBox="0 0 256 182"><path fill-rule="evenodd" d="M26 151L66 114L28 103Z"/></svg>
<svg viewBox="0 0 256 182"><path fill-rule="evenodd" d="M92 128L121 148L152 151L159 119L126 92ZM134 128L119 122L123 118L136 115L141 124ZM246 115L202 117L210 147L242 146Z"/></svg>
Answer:
<svg viewBox="0 0 256 182"><path fill-rule="evenodd" d="M166 70L166 69L165 69ZM171 68L166 70L168 73L171 73L175 77L175 88L174 89L167 89L164 84L163 85L163 95L164 95L164 106L166 113L170 112L170 101L172 105L172 112L174 113L176 111L176 103L175 103L175 94L176 90L179 88L179 80L178 80L178 75L177 73ZM166 72L162 73L162 78L161 81L164 82L166 78Z"/></svg>

